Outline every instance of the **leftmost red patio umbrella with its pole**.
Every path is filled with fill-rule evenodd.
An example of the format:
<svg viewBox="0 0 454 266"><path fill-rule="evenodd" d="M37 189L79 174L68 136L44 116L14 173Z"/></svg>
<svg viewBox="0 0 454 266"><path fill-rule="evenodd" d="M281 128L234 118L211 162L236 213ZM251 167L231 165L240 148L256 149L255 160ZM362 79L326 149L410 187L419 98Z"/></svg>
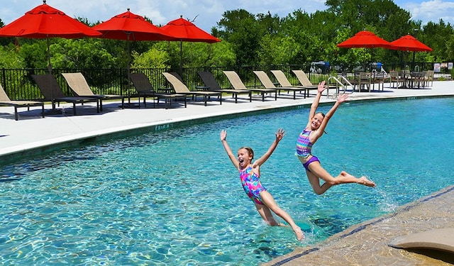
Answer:
<svg viewBox="0 0 454 266"><path fill-rule="evenodd" d="M0 37L22 37L22 38L45 38L48 44L48 70L52 74L50 65L49 38L82 38L96 37L101 35L98 31L90 28L82 22L77 21L64 12L54 9L52 6L43 4L36 6L25 15L0 28ZM50 82L50 81L49 81ZM52 84L52 82L50 82ZM51 96L53 89L51 87ZM52 106L53 96L52 96ZM52 109L55 111L55 109Z"/></svg>

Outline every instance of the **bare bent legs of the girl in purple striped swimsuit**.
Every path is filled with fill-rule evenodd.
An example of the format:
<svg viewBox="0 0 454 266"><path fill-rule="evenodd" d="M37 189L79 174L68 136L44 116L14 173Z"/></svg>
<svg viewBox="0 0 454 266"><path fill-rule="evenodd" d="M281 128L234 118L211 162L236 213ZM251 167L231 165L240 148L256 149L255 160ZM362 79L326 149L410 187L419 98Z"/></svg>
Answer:
<svg viewBox="0 0 454 266"><path fill-rule="evenodd" d="M309 178L309 182L311 182L311 186L316 194L323 194L330 187L337 184L357 183L363 184L367 187L375 187L375 183L366 177L354 177L345 171L342 171L337 177L333 177L325 169L323 169L323 167L321 167L320 162L311 162L309 170L311 170L311 172L306 170L307 177ZM316 180L316 177L323 179L325 184L320 186L320 182L319 180Z"/></svg>

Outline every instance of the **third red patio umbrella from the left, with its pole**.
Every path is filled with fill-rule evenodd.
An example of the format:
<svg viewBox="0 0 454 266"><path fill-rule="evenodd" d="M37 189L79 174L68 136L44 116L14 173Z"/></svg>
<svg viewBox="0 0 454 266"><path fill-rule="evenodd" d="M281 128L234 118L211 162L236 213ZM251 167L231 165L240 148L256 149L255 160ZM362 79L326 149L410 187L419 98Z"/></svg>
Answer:
<svg viewBox="0 0 454 266"><path fill-rule="evenodd" d="M179 40L179 74L183 68L183 44L182 42L218 43L221 40L207 33L194 23L187 21L183 16L170 21L161 27L162 31Z"/></svg>

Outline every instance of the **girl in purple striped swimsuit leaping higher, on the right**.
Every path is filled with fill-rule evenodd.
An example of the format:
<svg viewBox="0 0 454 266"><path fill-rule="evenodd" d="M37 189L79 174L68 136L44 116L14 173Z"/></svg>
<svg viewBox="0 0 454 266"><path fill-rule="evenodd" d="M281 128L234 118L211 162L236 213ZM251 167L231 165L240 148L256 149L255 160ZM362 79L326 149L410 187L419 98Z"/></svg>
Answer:
<svg viewBox="0 0 454 266"><path fill-rule="evenodd" d="M323 135L329 119L333 116L336 109L338 109L344 101L347 101L348 98L348 94L340 94L336 103L333 107L331 107L326 115L321 112L316 113L316 109L319 106L321 92L325 89L325 82L323 81L319 84L317 95L314 102L311 104L309 122L299 134L299 138L297 140L297 152L295 153L301 164L303 164L306 169L306 174L309 178L312 189L314 189L316 194L320 195L336 184L358 183L367 187L375 187L375 183L366 177L354 177L345 171L342 171L337 177L331 176L331 174L321 167L319 158L311 154L312 145L314 145L321 135ZM324 181L322 185L320 185L320 179Z"/></svg>

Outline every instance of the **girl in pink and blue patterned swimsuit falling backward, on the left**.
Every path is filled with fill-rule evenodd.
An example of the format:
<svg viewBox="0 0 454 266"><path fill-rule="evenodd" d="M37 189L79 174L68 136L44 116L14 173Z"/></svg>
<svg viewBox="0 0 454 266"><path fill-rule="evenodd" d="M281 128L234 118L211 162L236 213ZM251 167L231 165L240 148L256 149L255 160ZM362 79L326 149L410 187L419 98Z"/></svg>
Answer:
<svg viewBox="0 0 454 266"><path fill-rule="evenodd" d="M267 192L267 189L260 183L260 166L263 165L275 151L279 141L284 138L284 134L285 131L282 128L279 128L276 133L275 141L271 144L270 148L268 148L267 152L262 157L258 158L254 164L252 163L254 152L249 147L240 148L240 150L238 150L238 155L233 155L231 148L227 144L227 131L221 131L221 141L224 149L226 149L228 157L240 172L241 184L243 184L244 191L254 202L255 208L260 216L262 216L263 220L270 226L283 226L282 223L277 223L272 216L271 211L273 211L277 216L280 216L289 223L289 226L292 227L295 235L297 235L297 239L301 240L303 239L301 228L294 223L292 217L290 217L287 212L277 206L276 201L273 199L270 192Z"/></svg>

